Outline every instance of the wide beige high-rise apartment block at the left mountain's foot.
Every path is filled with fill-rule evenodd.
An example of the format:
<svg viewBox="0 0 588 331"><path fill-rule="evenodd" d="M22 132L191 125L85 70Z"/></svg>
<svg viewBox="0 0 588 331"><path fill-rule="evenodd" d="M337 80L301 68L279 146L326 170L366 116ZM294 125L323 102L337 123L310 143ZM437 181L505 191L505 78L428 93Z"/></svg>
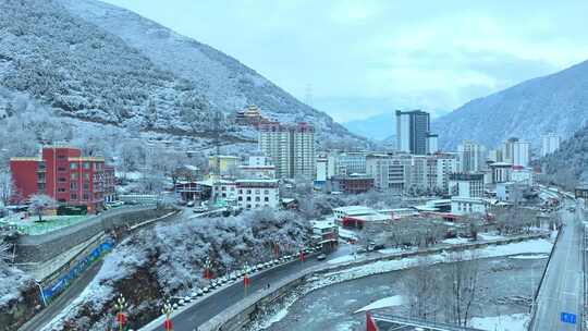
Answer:
<svg viewBox="0 0 588 331"><path fill-rule="evenodd" d="M315 176L315 130L308 123L259 124L259 150L270 157L278 177Z"/></svg>

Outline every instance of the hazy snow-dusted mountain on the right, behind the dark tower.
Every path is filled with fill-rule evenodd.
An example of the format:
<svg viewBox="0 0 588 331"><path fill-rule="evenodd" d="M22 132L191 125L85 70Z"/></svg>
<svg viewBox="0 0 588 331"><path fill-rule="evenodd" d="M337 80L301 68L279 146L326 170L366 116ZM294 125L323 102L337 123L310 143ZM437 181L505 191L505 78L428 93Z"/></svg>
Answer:
<svg viewBox="0 0 588 331"><path fill-rule="evenodd" d="M569 137L588 119L588 61L534 78L486 98L471 100L432 123L440 146L453 149L463 139L489 147L516 136L538 147L540 136Z"/></svg>

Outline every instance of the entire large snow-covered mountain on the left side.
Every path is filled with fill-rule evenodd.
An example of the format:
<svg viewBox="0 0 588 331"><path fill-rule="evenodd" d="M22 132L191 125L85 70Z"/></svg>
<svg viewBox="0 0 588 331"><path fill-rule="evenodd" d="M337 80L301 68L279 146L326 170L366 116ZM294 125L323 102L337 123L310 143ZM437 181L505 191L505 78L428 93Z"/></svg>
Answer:
<svg viewBox="0 0 588 331"><path fill-rule="evenodd" d="M357 140L237 60L99 1L1 1L0 40L2 95L27 95L57 115L207 136L211 110L255 103L269 118L314 123L320 137ZM0 97L0 119L13 101Z"/></svg>

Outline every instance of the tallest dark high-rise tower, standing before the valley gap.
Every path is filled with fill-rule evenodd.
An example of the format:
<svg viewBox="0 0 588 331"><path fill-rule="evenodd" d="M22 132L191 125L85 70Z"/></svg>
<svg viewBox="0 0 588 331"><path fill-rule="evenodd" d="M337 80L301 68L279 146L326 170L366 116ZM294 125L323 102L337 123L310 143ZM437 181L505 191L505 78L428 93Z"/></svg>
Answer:
<svg viewBox="0 0 588 331"><path fill-rule="evenodd" d="M414 155L426 155L429 149L437 149L428 112L396 110L396 148Z"/></svg>

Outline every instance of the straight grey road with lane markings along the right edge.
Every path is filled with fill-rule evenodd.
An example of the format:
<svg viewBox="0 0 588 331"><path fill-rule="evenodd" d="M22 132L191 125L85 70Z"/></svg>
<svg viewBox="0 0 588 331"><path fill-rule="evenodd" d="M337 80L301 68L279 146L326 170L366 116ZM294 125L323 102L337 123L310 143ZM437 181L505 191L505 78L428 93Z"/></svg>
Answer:
<svg viewBox="0 0 588 331"><path fill-rule="evenodd" d="M583 211L568 212L575 206L565 200L560 211L564 226L553 256L549 262L546 278L537 297L535 323L531 330L581 330L581 309L584 306L584 225ZM561 312L576 315L576 323L564 323Z"/></svg>

